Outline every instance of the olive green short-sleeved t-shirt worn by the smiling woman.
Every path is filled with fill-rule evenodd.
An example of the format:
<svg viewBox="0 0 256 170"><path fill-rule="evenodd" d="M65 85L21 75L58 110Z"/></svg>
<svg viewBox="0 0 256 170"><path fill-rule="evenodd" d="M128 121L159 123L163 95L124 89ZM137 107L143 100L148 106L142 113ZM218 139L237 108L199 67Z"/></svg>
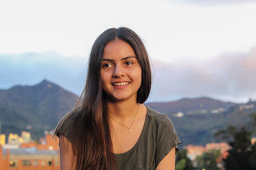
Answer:
<svg viewBox="0 0 256 170"><path fill-rule="evenodd" d="M60 133L70 140L68 131ZM145 123L136 144L125 153L115 153L118 169L156 169L172 148L176 148L176 153L179 151L179 144L170 118L147 107Z"/></svg>

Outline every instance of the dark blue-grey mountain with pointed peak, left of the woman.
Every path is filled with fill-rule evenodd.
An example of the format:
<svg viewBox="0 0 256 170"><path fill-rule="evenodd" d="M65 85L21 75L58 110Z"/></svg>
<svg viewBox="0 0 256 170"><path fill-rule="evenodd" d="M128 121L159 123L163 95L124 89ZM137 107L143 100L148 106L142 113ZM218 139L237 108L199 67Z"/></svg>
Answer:
<svg viewBox="0 0 256 170"><path fill-rule="evenodd" d="M0 122L3 134L29 131L32 137L56 127L72 110L78 97L47 80L34 86L17 85L0 90Z"/></svg>

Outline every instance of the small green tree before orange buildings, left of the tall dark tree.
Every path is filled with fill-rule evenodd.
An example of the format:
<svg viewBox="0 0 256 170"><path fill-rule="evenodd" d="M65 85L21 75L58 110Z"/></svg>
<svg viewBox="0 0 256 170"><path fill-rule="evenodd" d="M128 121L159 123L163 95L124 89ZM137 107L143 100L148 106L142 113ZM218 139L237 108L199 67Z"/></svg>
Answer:
<svg viewBox="0 0 256 170"><path fill-rule="evenodd" d="M209 150L208 152L204 152L202 155L196 157L198 167L206 170L220 170L220 167L218 167L216 163L216 159L218 159L220 155L220 150Z"/></svg>

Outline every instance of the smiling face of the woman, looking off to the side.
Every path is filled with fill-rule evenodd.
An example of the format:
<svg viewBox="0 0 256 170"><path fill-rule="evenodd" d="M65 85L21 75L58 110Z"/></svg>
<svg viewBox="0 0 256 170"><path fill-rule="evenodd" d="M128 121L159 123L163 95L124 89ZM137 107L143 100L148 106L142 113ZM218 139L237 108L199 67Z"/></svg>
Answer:
<svg viewBox="0 0 256 170"><path fill-rule="evenodd" d="M141 85L141 67L132 47L120 39L109 41L104 48L100 68L102 88L109 99L134 99Z"/></svg>

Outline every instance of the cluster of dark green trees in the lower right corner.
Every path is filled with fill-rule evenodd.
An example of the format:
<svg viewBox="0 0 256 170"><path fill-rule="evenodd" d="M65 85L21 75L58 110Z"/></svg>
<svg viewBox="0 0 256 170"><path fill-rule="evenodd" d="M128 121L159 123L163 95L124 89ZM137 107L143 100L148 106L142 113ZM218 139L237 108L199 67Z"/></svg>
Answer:
<svg viewBox="0 0 256 170"><path fill-rule="evenodd" d="M226 159L223 159L225 170L256 169L256 143L254 145L251 143L252 136L256 130L256 113L243 114L240 112L240 114L242 117L247 115L246 118L252 120L245 124L246 127L230 126L215 134L215 137L221 136L221 138L228 140L231 146L230 150L228 150L229 155ZM191 160L187 157L187 153L187 150L180 150L177 155L175 170L192 170L195 168L220 170L216 163L216 160L221 155L220 150L209 150L196 157L196 167L193 167Z"/></svg>

